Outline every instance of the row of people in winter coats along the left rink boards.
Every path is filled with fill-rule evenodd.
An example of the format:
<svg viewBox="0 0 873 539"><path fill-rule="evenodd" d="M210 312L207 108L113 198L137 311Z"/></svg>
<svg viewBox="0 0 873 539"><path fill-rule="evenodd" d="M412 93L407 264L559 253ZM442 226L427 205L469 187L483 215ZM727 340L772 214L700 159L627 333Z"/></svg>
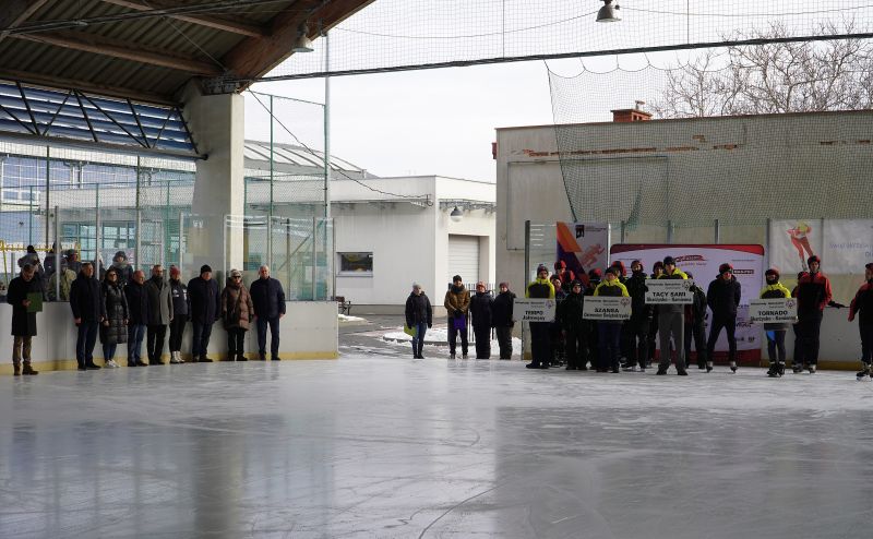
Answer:
<svg viewBox="0 0 873 539"><path fill-rule="evenodd" d="M181 347L188 322L193 335L193 362L212 362L207 356L213 324L222 321L227 331L227 361L247 361L246 332L258 327L259 359L266 360L266 332L271 332L272 360L279 359L279 319L285 315L285 292L282 284L270 276L270 267L261 266L259 278L250 288L242 283L242 273L231 270L224 289L213 278L212 267L204 264L200 274L188 284L181 280L178 267L170 266L169 279L164 266L152 266L146 280L142 270L122 271L115 264L106 270L103 280L94 275L94 264L83 262L70 284L70 309L76 325L76 362L80 371L97 370L94 348L99 336L104 367L117 368L116 351L127 345L128 367L164 364L164 346L169 330L170 363L184 363ZM7 302L12 306L14 374L33 375L32 338L36 336L36 312L29 308L33 294L43 285L37 268L25 263L21 275L9 286ZM146 358L142 344L146 340Z"/></svg>

